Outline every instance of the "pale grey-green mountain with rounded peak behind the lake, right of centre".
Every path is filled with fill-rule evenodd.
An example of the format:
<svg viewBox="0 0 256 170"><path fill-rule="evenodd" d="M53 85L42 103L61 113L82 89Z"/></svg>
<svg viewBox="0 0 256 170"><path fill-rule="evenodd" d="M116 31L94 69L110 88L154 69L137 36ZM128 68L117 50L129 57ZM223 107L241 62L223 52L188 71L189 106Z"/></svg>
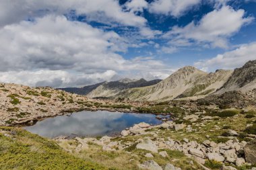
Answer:
<svg viewBox="0 0 256 170"><path fill-rule="evenodd" d="M205 73L195 67L183 67L156 85L121 91L116 97L131 100L169 100L214 93L222 87L232 71Z"/></svg>

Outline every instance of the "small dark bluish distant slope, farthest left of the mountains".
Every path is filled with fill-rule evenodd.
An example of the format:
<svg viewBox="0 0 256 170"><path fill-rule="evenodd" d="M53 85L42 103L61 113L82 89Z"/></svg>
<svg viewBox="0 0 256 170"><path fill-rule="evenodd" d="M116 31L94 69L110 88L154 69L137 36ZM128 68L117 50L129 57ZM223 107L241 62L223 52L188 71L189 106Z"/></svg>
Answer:
<svg viewBox="0 0 256 170"><path fill-rule="evenodd" d="M102 85L104 83L105 82L97 83L95 85L88 85L88 86L81 87L81 88L67 87L67 88L61 88L61 90L67 91L69 93L79 94L79 95L87 95L88 93L90 93L91 91L93 91L94 89L96 89L97 87L99 87L100 85Z"/></svg>

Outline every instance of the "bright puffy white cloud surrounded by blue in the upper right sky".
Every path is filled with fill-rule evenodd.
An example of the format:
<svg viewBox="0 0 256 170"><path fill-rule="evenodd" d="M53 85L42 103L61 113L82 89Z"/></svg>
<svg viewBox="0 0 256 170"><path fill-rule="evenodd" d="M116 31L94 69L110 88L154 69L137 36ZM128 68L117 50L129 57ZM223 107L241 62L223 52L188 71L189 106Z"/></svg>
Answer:
<svg viewBox="0 0 256 170"><path fill-rule="evenodd" d="M194 40L195 42L209 42L213 47L226 48L230 36L238 32L242 26L252 22L253 17L245 17L245 11L237 11L229 6L207 13L195 24L191 22L187 26L174 27L164 35L165 38L175 38L176 40Z"/></svg>

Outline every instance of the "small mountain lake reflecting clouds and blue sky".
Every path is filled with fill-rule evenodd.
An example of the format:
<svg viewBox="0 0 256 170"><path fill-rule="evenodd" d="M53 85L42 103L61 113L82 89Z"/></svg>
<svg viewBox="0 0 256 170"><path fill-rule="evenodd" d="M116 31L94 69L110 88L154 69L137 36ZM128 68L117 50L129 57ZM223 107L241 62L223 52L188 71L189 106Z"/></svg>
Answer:
<svg viewBox="0 0 256 170"><path fill-rule="evenodd" d="M36 122L33 126L24 129L40 136L55 138L57 136L103 136L113 135L125 128L146 122L148 124L160 124L154 114L134 114L108 111L83 111L71 114L71 116L56 116Z"/></svg>

